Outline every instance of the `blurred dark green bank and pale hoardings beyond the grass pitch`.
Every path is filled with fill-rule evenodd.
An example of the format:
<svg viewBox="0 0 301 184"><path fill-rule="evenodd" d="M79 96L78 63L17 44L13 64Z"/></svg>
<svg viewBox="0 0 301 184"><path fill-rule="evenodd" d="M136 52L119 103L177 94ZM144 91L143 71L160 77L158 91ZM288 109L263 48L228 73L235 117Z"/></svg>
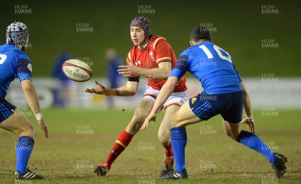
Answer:
<svg viewBox="0 0 301 184"><path fill-rule="evenodd" d="M148 18L152 34L165 37L177 57L190 46L190 31L204 25L211 29L213 42L234 59L254 107L300 108L300 6L300 1L4 1L0 40L5 43L6 28L14 21L29 27L26 54L32 61L33 80L43 107L114 108L110 103L116 103L123 108L124 103L135 107L146 84L143 80L136 97L108 101L83 90L94 87L95 79L106 87L111 85L106 51L114 48L125 61L133 47L131 19ZM63 51L69 58L87 62L93 69L92 80L64 83L54 73L55 66L64 60ZM125 82L120 78L119 86ZM188 85L191 95L201 90L194 79L188 79ZM8 100L26 105L23 92L14 90L19 88L18 82L12 83ZM66 89L59 92L62 88ZM67 94L64 102L60 102L59 93Z"/></svg>

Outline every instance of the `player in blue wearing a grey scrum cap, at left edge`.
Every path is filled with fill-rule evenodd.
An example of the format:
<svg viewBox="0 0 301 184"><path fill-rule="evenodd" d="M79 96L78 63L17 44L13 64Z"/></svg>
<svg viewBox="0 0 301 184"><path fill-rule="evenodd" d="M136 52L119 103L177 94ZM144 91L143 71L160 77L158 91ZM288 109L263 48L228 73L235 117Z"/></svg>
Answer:
<svg viewBox="0 0 301 184"><path fill-rule="evenodd" d="M24 114L5 99L6 90L18 77L28 105L35 114L44 135L48 138L47 125L41 113L38 95L32 84L31 61L24 53L28 36L28 28L25 24L12 23L7 28L7 44L0 46L0 127L20 137L16 145L16 180L45 178L27 167L35 143L35 129Z"/></svg>

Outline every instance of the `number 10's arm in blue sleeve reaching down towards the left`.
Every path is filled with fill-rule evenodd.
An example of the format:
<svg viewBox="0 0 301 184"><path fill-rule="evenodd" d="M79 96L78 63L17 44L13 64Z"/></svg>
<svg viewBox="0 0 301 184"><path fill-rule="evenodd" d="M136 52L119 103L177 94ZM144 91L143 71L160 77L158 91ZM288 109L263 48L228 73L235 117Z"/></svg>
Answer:
<svg viewBox="0 0 301 184"><path fill-rule="evenodd" d="M178 81L181 79L181 77L184 76L187 70L188 70L188 56L186 54L181 55L174 69L172 70L169 78L167 79L166 83L162 86L156 98L154 107L146 117L140 130L144 130L145 128L147 128L149 121L157 121L156 115L159 112L159 109L163 106L166 100L171 96L171 94L175 90L176 85L178 84Z"/></svg>

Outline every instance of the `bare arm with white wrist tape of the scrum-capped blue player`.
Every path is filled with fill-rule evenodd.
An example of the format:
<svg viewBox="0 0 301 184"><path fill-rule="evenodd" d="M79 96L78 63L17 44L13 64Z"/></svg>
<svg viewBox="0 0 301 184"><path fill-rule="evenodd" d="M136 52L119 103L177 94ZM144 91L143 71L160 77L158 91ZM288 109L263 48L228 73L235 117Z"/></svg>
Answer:
<svg viewBox="0 0 301 184"><path fill-rule="evenodd" d="M44 132L44 136L49 138L47 124L45 123L45 121L43 119L43 116L41 113L41 108L40 108L40 103L39 103L39 98L38 98L37 92L35 90L35 87L34 87L32 81L28 80L28 79L22 80L21 86L24 91L25 99L26 99L29 107L35 114L38 124L39 124L40 128L42 129L42 131Z"/></svg>

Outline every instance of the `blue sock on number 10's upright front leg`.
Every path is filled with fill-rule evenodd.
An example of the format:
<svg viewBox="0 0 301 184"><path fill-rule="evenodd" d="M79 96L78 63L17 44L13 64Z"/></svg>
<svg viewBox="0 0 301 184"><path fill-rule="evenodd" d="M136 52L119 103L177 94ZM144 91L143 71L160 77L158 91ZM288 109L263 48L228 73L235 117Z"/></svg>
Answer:
<svg viewBox="0 0 301 184"><path fill-rule="evenodd" d="M186 170L185 167L185 146L187 135L185 127L175 127L171 129L172 145L176 160L176 169L179 172Z"/></svg>

